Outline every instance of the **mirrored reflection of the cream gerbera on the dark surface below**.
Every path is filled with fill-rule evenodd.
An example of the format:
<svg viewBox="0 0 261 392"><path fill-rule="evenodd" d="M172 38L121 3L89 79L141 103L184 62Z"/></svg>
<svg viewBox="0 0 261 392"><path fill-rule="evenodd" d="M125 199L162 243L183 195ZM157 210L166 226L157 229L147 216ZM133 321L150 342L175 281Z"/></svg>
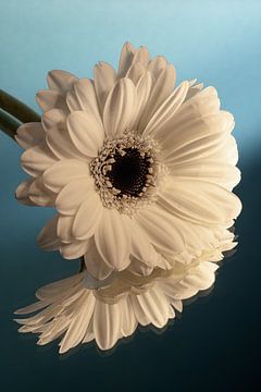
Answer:
<svg viewBox="0 0 261 392"><path fill-rule="evenodd" d="M94 281L85 270L46 285L36 293L38 303L16 311L24 315L40 310L16 320L23 324L20 332L40 334L40 345L65 332L60 343L60 353L65 353L94 339L101 350L111 348L119 339L130 335L138 323L162 328L175 317L175 310L182 311L182 299L213 284L217 265L207 259L220 259L221 250L233 247L233 234L223 234L219 249L189 265L177 262L171 271L154 269L149 277L139 277L125 270L117 272L113 282L89 290Z"/></svg>

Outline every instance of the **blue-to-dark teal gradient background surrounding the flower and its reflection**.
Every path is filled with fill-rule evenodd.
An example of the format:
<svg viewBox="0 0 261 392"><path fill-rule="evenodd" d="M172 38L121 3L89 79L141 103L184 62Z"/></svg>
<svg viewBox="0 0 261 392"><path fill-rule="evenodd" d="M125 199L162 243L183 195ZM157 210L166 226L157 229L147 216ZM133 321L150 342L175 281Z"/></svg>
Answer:
<svg viewBox="0 0 261 392"><path fill-rule="evenodd" d="M52 215L18 205L21 148L0 134L0 388L2 391L257 391L260 385L261 2L239 0L1 0L0 86L35 107L51 69L91 77L116 65L122 45L148 46L178 81L214 85L236 119L244 203L237 253L211 294L187 306L162 335L138 331L111 355L95 345L59 356L16 332L13 310L77 262L44 253L36 235ZM258 385L259 383L259 385ZM254 387L256 385L256 387Z"/></svg>

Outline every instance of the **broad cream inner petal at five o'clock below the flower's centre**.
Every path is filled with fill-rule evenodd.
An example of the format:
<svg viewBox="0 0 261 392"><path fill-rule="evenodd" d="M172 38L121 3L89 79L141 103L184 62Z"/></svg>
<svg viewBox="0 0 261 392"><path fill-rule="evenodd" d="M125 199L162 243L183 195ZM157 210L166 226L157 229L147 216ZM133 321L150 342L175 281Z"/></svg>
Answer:
<svg viewBox="0 0 261 392"><path fill-rule="evenodd" d="M136 217L138 223L157 248L181 253L184 249L184 235L175 217L153 205Z"/></svg>

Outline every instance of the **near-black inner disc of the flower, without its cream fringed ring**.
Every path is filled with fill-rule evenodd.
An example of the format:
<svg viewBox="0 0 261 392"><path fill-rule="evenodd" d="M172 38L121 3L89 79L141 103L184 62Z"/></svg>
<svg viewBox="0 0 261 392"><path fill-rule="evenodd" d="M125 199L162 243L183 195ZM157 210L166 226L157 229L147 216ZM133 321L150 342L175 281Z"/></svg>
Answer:
<svg viewBox="0 0 261 392"><path fill-rule="evenodd" d="M113 156L115 162L107 173L112 185L123 195L138 197L147 183L147 175L151 163L148 156L140 155L138 148L125 148L124 155L116 151Z"/></svg>

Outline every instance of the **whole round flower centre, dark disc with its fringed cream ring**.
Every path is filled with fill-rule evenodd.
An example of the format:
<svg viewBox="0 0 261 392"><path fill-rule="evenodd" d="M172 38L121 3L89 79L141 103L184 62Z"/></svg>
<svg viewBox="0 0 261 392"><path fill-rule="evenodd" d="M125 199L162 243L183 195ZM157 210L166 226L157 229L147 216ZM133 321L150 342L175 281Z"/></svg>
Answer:
<svg viewBox="0 0 261 392"><path fill-rule="evenodd" d="M107 139L90 162L103 206L132 215L144 203L153 201L161 168L158 152L153 140L137 135Z"/></svg>

